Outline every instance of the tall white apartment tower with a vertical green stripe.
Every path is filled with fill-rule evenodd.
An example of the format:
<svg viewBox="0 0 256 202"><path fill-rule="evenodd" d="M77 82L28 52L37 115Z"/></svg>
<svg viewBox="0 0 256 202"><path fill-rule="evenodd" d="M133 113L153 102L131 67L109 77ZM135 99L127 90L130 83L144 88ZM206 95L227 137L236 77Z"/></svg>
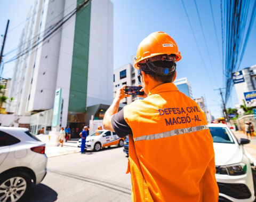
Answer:
<svg viewBox="0 0 256 202"><path fill-rule="evenodd" d="M35 0L18 54L42 41L83 2ZM62 126L82 126L111 104L112 86L113 3L88 0L56 33L17 59L9 95L16 101L8 110L28 115L53 109L61 88Z"/></svg>

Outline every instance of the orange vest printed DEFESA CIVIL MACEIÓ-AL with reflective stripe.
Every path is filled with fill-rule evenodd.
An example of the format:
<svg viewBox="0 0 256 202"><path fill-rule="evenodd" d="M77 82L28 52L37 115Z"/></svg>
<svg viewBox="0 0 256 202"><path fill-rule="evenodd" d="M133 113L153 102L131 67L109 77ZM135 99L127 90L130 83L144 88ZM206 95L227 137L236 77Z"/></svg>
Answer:
<svg viewBox="0 0 256 202"><path fill-rule="evenodd" d="M204 112L172 84L124 107L132 201L217 202L213 140Z"/></svg>

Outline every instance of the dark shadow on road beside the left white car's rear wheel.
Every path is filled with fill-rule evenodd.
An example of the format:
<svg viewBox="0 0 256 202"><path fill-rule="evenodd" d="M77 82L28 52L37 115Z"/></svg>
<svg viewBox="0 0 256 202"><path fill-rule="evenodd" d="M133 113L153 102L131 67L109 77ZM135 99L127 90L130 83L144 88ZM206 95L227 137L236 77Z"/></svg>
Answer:
<svg viewBox="0 0 256 202"><path fill-rule="evenodd" d="M53 202L56 201L58 193L50 187L40 183L38 185L33 184L26 202Z"/></svg>

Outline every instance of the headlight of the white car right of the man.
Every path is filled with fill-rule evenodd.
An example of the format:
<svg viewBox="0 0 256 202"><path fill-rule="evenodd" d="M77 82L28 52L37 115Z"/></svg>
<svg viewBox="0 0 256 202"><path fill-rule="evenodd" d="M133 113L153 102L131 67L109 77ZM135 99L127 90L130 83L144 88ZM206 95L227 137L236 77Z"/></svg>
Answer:
<svg viewBox="0 0 256 202"><path fill-rule="evenodd" d="M247 166L243 162L239 164L220 166L216 169L217 174L223 174L223 175L243 175L246 173L246 171L247 171Z"/></svg>

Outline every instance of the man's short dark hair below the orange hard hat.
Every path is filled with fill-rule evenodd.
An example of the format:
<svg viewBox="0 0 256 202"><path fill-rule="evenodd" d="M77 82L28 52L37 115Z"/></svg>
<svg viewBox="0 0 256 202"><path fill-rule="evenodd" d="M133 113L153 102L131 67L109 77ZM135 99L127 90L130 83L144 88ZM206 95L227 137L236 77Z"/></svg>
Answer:
<svg viewBox="0 0 256 202"><path fill-rule="evenodd" d="M163 68L172 68L173 62L172 61L154 61L153 62L155 66L163 67ZM150 71L148 66L146 64L139 64L140 65L140 72L141 71L148 71L148 75L150 78L154 79L156 82L161 82L163 84L165 83L172 83L173 78L175 76L175 71L172 72L170 75L157 75L155 72Z"/></svg>

